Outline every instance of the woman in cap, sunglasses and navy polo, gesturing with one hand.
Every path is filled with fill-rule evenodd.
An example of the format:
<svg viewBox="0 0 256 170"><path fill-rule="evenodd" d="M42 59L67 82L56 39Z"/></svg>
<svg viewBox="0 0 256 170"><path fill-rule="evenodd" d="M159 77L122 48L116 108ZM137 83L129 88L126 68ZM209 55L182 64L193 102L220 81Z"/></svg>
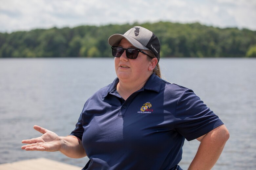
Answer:
<svg viewBox="0 0 256 170"><path fill-rule="evenodd" d="M23 140L25 150L86 155L83 169L182 170L184 139L201 142L189 169L211 169L229 133L192 90L161 79L160 42L136 26L109 40L117 78L85 103L75 130L66 137L42 127L41 137Z"/></svg>

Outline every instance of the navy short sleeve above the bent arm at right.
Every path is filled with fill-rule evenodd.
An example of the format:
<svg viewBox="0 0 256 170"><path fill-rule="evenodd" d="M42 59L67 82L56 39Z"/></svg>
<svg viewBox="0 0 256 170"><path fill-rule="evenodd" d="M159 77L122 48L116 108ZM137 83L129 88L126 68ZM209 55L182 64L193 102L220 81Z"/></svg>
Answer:
<svg viewBox="0 0 256 170"><path fill-rule="evenodd" d="M219 117L192 90L184 90L176 105L175 130L191 141L222 124Z"/></svg>

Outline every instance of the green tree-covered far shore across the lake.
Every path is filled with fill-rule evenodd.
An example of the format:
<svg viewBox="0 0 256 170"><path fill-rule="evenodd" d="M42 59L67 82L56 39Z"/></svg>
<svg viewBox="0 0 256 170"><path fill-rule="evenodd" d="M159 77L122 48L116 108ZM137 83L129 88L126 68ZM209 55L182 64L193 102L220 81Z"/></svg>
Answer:
<svg viewBox="0 0 256 170"><path fill-rule="evenodd" d="M112 57L108 38L137 25L157 35L161 57L256 57L256 31L157 22L0 33L0 58Z"/></svg>

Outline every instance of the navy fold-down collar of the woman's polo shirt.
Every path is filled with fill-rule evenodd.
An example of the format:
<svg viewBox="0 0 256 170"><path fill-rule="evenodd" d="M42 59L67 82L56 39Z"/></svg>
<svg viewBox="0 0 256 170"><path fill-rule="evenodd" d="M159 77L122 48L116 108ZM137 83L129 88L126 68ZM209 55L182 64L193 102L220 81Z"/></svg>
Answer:
<svg viewBox="0 0 256 170"><path fill-rule="evenodd" d="M142 87L139 91L144 91L144 89L146 89L146 90L152 90L159 93L161 89L162 81L163 80L159 76L153 73L145 83L144 87ZM119 82L119 79L116 78L113 81L113 83L110 85L107 92L102 96L102 98L105 98L110 92L115 91L118 82Z"/></svg>

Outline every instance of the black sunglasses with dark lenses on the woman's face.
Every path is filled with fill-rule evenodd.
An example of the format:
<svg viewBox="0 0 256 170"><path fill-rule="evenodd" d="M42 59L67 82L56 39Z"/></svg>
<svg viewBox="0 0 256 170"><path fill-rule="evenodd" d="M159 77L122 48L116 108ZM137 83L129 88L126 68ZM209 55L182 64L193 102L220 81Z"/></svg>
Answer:
<svg viewBox="0 0 256 170"><path fill-rule="evenodd" d="M124 50L125 50L125 53L126 53L126 57L128 59L136 59L139 55L139 52L141 52L143 54L146 54L144 51L142 51L140 49L137 49L137 48L123 48L123 47L120 47L120 46L112 46L111 48L112 48L112 55L114 57L121 57Z"/></svg>

